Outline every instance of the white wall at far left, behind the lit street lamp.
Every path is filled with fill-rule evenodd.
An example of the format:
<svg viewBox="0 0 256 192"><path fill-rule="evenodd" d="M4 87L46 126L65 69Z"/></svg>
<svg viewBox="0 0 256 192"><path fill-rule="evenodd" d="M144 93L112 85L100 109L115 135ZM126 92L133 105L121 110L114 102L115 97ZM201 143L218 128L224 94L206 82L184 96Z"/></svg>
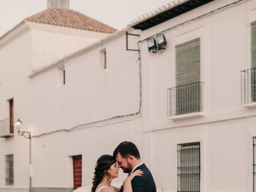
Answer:
<svg viewBox="0 0 256 192"><path fill-rule="evenodd" d="M22 34L0 49L0 120L9 118L9 102L14 98L14 121L20 116L24 120L23 130L26 130L30 115L27 113L30 106L30 79L31 72L31 35ZM0 138L0 190L3 188L27 191L29 186L29 140L17 135ZM14 156L14 185L5 184L5 155Z"/></svg>

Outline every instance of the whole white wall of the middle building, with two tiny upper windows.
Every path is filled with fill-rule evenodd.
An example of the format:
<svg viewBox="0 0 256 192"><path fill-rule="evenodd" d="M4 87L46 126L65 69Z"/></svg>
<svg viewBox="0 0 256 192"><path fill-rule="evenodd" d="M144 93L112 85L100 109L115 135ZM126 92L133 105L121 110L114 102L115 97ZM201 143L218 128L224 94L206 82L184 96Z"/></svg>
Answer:
<svg viewBox="0 0 256 192"><path fill-rule="evenodd" d="M124 34L64 63L60 66L65 68L64 85L58 83L58 68L33 77L28 126L32 135L138 112L138 53L127 52L125 43ZM104 48L107 67L100 70L100 50ZM82 154L82 185L91 184L97 158L112 154L125 140L136 143L143 152L141 114L32 138L32 187L72 188L71 157L78 154ZM124 178L120 173L115 182Z"/></svg>

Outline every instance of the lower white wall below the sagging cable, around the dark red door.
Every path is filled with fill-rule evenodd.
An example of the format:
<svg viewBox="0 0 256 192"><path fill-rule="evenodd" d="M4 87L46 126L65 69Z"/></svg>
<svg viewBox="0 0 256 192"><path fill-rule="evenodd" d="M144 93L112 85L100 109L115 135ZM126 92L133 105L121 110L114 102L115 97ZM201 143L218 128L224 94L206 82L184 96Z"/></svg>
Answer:
<svg viewBox="0 0 256 192"><path fill-rule="evenodd" d="M82 154L82 186L92 183L94 166L102 154L113 154L125 140L136 143L142 152L141 118L112 120L109 125L59 132L32 139L33 188L72 188L72 156ZM105 124L105 123L103 123ZM122 182L126 175L120 170L113 182Z"/></svg>

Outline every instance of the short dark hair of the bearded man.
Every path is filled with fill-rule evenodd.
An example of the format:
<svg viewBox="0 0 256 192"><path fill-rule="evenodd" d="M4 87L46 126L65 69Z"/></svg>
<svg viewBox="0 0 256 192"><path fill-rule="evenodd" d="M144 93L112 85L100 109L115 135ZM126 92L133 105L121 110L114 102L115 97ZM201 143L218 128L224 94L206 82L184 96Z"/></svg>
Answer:
<svg viewBox="0 0 256 192"><path fill-rule="evenodd" d="M128 158L129 156L134 156L136 159L140 159L140 152L136 145L129 141L124 141L120 143L113 152L113 157L116 158L117 154L123 158Z"/></svg>

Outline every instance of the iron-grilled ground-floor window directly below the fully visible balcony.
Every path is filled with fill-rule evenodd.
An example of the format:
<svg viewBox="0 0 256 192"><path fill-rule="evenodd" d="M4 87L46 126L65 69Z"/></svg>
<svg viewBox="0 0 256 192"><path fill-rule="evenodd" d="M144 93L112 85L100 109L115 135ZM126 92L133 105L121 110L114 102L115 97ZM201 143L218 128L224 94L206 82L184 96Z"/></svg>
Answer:
<svg viewBox="0 0 256 192"><path fill-rule="evenodd" d="M200 142L178 144L178 192L200 192Z"/></svg>

